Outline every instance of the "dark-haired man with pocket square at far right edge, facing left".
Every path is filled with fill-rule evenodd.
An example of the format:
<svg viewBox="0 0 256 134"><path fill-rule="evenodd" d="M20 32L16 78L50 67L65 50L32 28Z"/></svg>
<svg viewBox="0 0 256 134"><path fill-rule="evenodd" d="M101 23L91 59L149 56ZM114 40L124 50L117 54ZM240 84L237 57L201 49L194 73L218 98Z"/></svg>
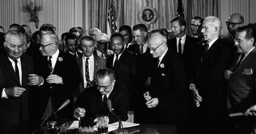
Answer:
<svg viewBox="0 0 256 134"><path fill-rule="evenodd" d="M233 67L225 71L229 80L227 109L229 113L244 112L256 104L256 31L250 26L237 29L235 45L239 54ZM232 117L230 125L232 134L251 134L253 131L252 117ZM235 127L236 126L236 127Z"/></svg>

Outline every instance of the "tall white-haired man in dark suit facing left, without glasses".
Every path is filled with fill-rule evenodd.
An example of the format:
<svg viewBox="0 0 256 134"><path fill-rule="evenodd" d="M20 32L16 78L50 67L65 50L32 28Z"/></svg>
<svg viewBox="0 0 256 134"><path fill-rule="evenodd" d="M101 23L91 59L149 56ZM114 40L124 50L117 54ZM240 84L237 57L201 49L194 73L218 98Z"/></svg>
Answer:
<svg viewBox="0 0 256 134"><path fill-rule="evenodd" d="M230 66L230 51L221 43L222 24L217 17L206 17L202 26L201 32L208 43L204 45L201 65L190 84L198 107L193 128L196 134L226 134L227 91L223 74Z"/></svg>

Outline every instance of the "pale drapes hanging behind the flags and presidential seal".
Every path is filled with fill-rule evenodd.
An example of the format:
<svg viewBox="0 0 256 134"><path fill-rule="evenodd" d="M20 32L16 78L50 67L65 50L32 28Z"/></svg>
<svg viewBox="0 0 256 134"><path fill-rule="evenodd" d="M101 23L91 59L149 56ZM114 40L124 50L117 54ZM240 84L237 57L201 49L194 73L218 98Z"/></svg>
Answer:
<svg viewBox="0 0 256 134"><path fill-rule="evenodd" d="M108 3L110 0L89 0L89 26L99 28L107 33ZM157 20L147 25L149 30L166 28L170 30L170 20L176 16L177 0L148 0L149 6L157 11ZM185 19L187 22L187 34L190 34L190 23L193 17L218 17L218 0L182 0ZM139 12L147 6L145 0L114 0L116 8L117 28L129 25L131 28L141 23Z"/></svg>

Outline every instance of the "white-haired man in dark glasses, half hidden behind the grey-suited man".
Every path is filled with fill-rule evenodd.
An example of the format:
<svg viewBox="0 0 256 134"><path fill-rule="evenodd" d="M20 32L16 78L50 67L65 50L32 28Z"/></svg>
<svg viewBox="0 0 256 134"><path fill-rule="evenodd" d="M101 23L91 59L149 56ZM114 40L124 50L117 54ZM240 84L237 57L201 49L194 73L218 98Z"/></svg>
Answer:
<svg viewBox="0 0 256 134"><path fill-rule="evenodd" d="M112 54L114 54L113 51L108 49L109 37L107 34L104 34L104 33L97 34L95 40L96 40L95 41L96 50L94 51L94 54L102 58L108 58Z"/></svg>

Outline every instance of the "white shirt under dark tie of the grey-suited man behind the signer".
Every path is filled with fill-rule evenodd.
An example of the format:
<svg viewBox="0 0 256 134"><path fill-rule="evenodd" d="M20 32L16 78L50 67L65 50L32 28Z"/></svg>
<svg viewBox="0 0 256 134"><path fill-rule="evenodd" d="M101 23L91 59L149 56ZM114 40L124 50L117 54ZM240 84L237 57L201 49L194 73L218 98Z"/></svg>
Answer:
<svg viewBox="0 0 256 134"><path fill-rule="evenodd" d="M83 76L84 76L84 88L87 86L87 81L86 81L86 76L85 76L85 63L86 63L86 58L88 59L88 69L89 69L89 77L90 81L93 80L93 73L94 73L94 57L93 54L90 57L85 57L83 54Z"/></svg>

